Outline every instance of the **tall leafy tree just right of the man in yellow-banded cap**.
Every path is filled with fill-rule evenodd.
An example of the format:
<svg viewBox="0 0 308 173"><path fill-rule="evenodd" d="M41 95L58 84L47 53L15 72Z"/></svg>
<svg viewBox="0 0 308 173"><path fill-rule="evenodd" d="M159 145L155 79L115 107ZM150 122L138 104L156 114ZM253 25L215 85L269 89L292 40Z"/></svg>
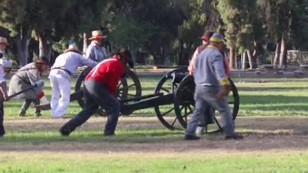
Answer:
<svg viewBox="0 0 308 173"><path fill-rule="evenodd" d="M229 66L233 68L233 61L237 62L236 51L242 54L254 47L256 1L221 0L217 9L225 25L225 38L230 49Z"/></svg>

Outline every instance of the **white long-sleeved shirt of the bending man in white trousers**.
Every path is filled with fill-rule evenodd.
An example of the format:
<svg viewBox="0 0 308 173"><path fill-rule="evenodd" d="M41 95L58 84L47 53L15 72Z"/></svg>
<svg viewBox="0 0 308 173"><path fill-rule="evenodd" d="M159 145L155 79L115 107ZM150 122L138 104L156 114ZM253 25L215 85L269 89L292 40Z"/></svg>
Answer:
<svg viewBox="0 0 308 173"><path fill-rule="evenodd" d="M91 59L87 59L86 57L83 57L82 55L74 52L67 52L64 54L59 55L56 58L56 61L54 65L51 67L50 76L60 74L62 77L67 78L70 80L70 75L65 70L69 71L71 74L74 74L76 72L77 67L82 66L89 66L94 67L97 64L96 61L93 61ZM53 69L53 68L61 68L61 69Z"/></svg>

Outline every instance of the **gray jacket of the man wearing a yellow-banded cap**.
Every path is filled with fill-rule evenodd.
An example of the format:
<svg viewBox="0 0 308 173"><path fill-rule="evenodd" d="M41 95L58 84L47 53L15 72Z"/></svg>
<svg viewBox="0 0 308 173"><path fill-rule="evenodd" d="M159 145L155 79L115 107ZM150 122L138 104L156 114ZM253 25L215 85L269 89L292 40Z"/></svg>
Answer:
<svg viewBox="0 0 308 173"><path fill-rule="evenodd" d="M220 52L214 48L206 48L195 60L194 78L199 85L212 85L219 87L219 81L227 77L223 58Z"/></svg>

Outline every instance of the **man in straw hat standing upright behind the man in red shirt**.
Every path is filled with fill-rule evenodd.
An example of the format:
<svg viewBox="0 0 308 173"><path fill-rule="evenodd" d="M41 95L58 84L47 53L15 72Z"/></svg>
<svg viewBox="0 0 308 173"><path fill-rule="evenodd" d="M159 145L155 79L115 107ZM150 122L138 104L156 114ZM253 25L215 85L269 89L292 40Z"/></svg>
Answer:
<svg viewBox="0 0 308 173"><path fill-rule="evenodd" d="M96 62L107 59L106 52L101 48L101 41L106 38L100 30L92 31L91 44L87 48L86 57Z"/></svg>

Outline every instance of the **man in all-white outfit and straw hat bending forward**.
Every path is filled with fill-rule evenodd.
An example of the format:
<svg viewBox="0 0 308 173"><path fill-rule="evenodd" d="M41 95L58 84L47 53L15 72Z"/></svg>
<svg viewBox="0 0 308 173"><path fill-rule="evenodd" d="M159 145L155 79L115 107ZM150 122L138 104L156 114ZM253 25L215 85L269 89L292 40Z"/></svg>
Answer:
<svg viewBox="0 0 308 173"><path fill-rule="evenodd" d="M71 77L77 67L94 67L96 64L97 62L83 57L74 44L69 45L68 49L56 58L49 74L52 86L50 102L52 118L61 118L66 112L70 99Z"/></svg>

